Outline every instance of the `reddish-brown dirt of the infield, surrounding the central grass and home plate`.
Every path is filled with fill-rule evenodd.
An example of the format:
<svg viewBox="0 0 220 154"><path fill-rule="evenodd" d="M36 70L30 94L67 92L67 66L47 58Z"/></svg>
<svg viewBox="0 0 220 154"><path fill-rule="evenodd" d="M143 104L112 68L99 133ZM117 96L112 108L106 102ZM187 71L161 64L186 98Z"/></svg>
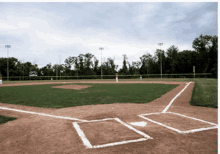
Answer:
<svg viewBox="0 0 220 154"><path fill-rule="evenodd" d="M36 84L57 84L63 82L35 82L35 83L15 83L2 84L2 86L22 86L22 85L36 85ZM115 83L113 81L77 81L66 83ZM34 115L28 113L21 113L9 110L0 109L0 115L11 116L18 118L17 120L7 122L0 125L0 153L74 153L74 154L211 154L218 149L213 142L217 141L218 130L205 130L201 132L179 134L158 124L147 121L137 115L162 112L170 101L186 86L186 82L165 82L165 81L119 81L120 83L162 83L162 84L177 84L179 85L172 91L169 91L160 98L146 102L147 104L134 103L114 103L105 105L87 105L77 106L62 109L47 109L29 107L23 105L13 105L0 103L0 107L8 107L12 109L20 109L25 111L34 111L39 113L51 114L56 116L73 117L83 120L98 120L104 118L119 118L123 122L129 124L130 122L145 121L145 127L132 126L135 129L144 132L153 139L128 143L123 145L116 145L111 147L104 147L99 149L87 149L72 122L74 120L59 119L54 117L47 117L41 115ZM189 101L191 99L194 82L192 82L179 97L175 99L167 112L175 112L186 116L202 119L208 122L217 124L218 109L191 106ZM135 97L135 96L134 96ZM178 116L172 117L175 127L179 128ZM156 120L156 118L154 119ZM106 121L107 122L107 121ZM187 120L184 121L187 123ZM193 121L189 121L193 125ZM97 124L97 125L96 125ZM107 143L111 141L119 141L121 137L129 136L127 130L123 134L123 125L112 125L93 123L91 130L96 130L94 134L89 131L88 125L82 126L87 132L88 137L93 143ZM101 125L101 126L100 126ZM103 131L102 131L102 129ZM117 128L117 129L116 129ZM187 127L184 127L184 129ZM198 124L198 128L200 125ZM101 130L100 130L101 129ZM108 130L118 130L117 133L109 132ZM191 127L189 127L191 129ZM100 131L100 134L99 134ZM102 132L101 132L102 131ZM129 131L129 130L128 130ZM95 135L96 134L96 135ZM117 135L121 134L121 136ZM104 140L99 140L99 136ZM137 136L139 136L137 134Z"/></svg>

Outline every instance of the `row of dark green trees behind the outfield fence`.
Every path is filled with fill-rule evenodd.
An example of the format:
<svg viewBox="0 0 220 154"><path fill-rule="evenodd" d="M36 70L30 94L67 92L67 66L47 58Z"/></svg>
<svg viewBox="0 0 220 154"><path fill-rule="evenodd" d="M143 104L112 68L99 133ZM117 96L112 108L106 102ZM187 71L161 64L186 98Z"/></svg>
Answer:
<svg viewBox="0 0 220 154"><path fill-rule="evenodd" d="M172 45L167 51L157 49L155 55L149 53L139 57L138 61L128 62L126 54L123 55L123 65L117 71L118 65L114 58L107 58L102 63L102 75L138 75L138 74L160 74L161 64L163 74L212 73L217 78L218 71L218 37L216 35L200 35L192 42L194 50L179 51L178 47ZM71 69L72 66L74 69ZM9 58L10 76L82 76L101 75L99 60L91 53L69 56L64 64L51 63L39 68L31 62L22 63L17 58ZM7 58L0 58L0 74L7 76Z"/></svg>

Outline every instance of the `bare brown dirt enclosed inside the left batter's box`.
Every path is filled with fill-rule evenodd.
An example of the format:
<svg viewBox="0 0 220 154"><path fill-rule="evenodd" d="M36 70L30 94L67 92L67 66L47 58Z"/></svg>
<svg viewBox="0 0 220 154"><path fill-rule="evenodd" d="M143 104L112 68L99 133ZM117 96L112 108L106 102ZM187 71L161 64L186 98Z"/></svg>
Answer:
<svg viewBox="0 0 220 154"><path fill-rule="evenodd" d="M103 145L143 138L115 120L79 123L91 145Z"/></svg>

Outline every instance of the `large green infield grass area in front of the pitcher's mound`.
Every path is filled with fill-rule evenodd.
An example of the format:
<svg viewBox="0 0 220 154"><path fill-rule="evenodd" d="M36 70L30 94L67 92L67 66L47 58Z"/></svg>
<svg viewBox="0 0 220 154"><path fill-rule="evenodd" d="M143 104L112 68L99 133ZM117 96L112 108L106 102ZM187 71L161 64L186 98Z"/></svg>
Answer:
<svg viewBox="0 0 220 154"><path fill-rule="evenodd" d="M0 87L0 102L44 108L147 103L177 87L165 84L82 84L92 87L81 90L52 88L58 85L61 84Z"/></svg>

